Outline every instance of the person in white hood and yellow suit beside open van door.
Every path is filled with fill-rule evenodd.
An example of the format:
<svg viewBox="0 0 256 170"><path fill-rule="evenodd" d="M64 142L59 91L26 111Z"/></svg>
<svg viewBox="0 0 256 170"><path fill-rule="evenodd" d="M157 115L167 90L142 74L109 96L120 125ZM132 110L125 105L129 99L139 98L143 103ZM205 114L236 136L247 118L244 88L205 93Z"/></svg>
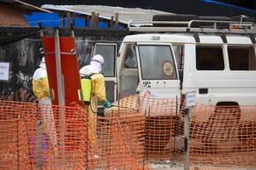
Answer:
<svg viewBox="0 0 256 170"><path fill-rule="evenodd" d="M96 54L92 57L90 65L84 66L79 70L80 75L91 76L91 103L85 105L85 110L89 113L89 143L91 149L91 155L94 155L94 147L96 144L96 120L97 120L97 105L99 99L103 102L106 108L111 107L111 103L106 99L106 87L104 75L100 74L104 65L104 58ZM94 157L97 157L94 155Z"/></svg>

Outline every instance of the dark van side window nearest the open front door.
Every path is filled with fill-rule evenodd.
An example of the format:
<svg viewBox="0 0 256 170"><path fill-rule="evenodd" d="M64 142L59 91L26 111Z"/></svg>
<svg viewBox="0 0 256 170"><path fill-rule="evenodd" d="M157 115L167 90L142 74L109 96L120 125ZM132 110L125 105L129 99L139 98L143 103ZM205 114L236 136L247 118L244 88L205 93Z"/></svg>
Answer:
<svg viewBox="0 0 256 170"><path fill-rule="evenodd" d="M197 70L223 70L222 46L196 46Z"/></svg>

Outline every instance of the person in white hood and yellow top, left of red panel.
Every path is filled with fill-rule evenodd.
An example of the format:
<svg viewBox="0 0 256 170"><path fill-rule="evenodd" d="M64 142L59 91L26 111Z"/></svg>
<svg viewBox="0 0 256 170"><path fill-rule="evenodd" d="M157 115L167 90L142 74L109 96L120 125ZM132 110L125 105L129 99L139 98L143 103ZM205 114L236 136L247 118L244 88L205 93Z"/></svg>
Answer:
<svg viewBox="0 0 256 170"><path fill-rule="evenodd" d="M40 61L40 67L37 68L33 74L33 94L37 97L44 124L46 124L48 136L53 146L55 155L57 155L57 135L55 129L55 117L52 110L52 101L50 98L49 85L48 85L48 73L43 57Z"/></svg>

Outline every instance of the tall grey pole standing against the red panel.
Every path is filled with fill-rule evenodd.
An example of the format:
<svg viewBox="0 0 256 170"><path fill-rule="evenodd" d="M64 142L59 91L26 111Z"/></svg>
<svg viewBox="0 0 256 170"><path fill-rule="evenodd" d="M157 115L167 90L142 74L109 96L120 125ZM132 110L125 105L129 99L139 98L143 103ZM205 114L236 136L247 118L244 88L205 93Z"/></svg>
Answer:
<svg viewBox="0 0 256 170"><path fill-rule="evenodd" d="M65 112L62 108L65 106L65 95L64 95L64 77L62 75L62 64L61 64L61 50L60 50L60 39L59 31L55 30L55 60L56 60L56 77L58 87L58 102L60 107L60 152L62 158L65 156L65 132L66 132L66 117Z"/></svg>

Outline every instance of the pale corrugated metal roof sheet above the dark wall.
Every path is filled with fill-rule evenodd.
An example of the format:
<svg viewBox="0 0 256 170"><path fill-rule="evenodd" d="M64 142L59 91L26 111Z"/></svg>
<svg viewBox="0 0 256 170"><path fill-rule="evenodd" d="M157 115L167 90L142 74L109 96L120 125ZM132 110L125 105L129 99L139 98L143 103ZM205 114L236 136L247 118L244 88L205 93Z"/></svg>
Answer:
<svg viewBox="0 0 256 170"><path fill-rule="evenodd" d="M104 5L53 5L44 4L43 9L55 12L74 12L81 15L91 16L91 12L99 13L99 18L111 20L116 13L119 14L119 22L128 25L130 20L151 20L156 14L171 14L165 11L144 10L140 8L123 8Z"/></svg>

